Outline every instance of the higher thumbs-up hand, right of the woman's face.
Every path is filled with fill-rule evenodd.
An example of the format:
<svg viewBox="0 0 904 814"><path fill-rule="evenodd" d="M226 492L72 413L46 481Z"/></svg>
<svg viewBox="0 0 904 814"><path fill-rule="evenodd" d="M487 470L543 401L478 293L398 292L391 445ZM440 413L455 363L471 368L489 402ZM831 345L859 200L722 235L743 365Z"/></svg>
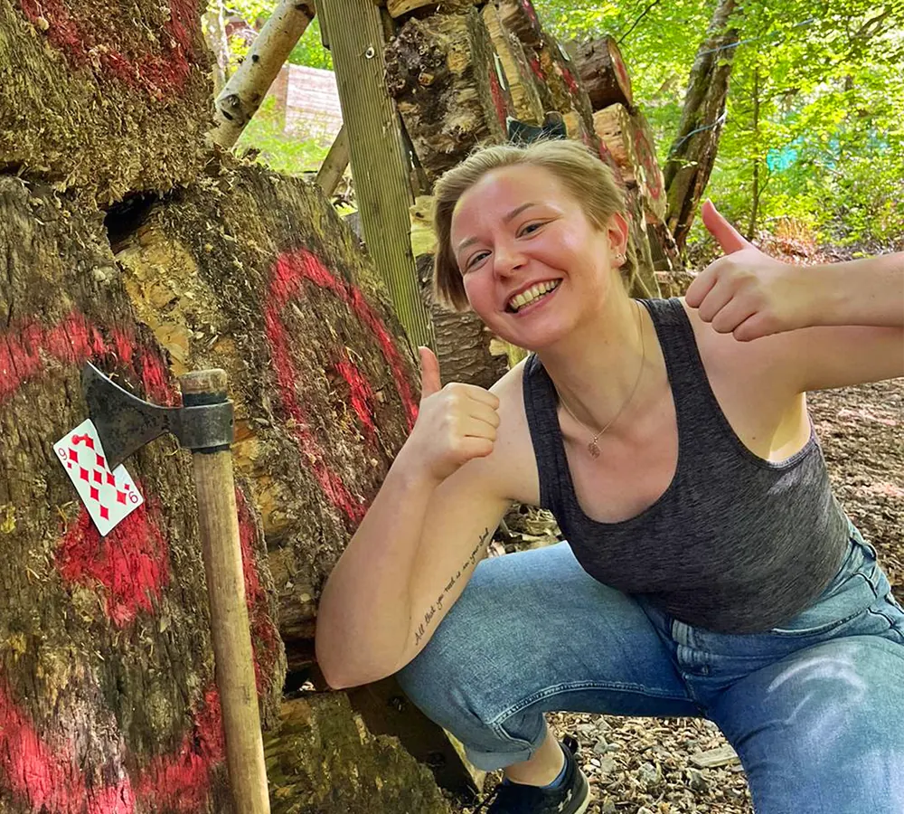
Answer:
<svg viewBox="0 0 904 814"><path fill-rule="evenodd" d="M741 342L812 324L803 270L759 251L711 201L703 204L702 217L725 252L702 270L684 296L704 322Z"/></svg>

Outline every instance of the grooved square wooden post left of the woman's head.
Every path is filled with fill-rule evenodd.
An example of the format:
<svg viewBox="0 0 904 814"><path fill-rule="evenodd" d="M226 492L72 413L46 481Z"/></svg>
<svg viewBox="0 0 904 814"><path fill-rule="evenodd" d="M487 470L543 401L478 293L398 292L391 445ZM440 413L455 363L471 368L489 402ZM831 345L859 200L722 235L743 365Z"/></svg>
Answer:
<svg viewBox="0 0 904 814"><path fill-rule="evenodd" d="M381 9L372 0L321 0L317 14L333 55L364 242L410 341L434 347L411 256L414 198L399 116L386 90Z"/></svg>

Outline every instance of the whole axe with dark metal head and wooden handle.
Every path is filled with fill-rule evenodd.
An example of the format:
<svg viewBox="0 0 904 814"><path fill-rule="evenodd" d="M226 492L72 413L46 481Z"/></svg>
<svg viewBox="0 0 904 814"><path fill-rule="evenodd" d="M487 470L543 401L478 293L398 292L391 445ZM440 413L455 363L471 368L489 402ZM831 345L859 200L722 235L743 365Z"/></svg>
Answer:
<svg viewBox="0 0 904 814"><path fill-rule="evenodd" d="M220 691L226 762L238 814L269 814L267 771L241 567L239 518L232 479L232 402L226 373L202 370L179 380L182 407L144 402L93 364L82 391L110 469L165 432L192 450L204 573L211 608L213 658Z"/></svg>

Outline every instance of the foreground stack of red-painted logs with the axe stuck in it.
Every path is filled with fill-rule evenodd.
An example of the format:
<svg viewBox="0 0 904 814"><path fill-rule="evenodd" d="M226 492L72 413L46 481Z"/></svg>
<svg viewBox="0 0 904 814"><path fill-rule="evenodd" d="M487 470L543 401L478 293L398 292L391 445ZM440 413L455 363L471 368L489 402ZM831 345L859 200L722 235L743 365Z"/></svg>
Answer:
<svg viewBox="0 0 904 814"><path fill-rule="evenodd" d="M178 374L229 374L274 810L441 814L344 694L280 703L287 663L315 676L319 591L410 429L415 367L324 196L204 149L200 42L191 3L0 0L0 809L234 810L190 457L129 458L146 502L101 537L53 450L91 360L164 404Z"/></svg>

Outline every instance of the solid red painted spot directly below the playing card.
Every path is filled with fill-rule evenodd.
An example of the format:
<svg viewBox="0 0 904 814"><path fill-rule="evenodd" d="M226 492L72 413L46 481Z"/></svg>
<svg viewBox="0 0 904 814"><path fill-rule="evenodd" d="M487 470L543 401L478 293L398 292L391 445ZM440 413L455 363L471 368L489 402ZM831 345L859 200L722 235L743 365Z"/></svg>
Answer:
<svg viewBox="0 0 904 814"><path fill-rule="evenodd" d="M82 509L56 552L66 582L103 586L107 617L118 628L153 612L169 581L168 546L147 508L139 506L106 537Z"/></svg>

